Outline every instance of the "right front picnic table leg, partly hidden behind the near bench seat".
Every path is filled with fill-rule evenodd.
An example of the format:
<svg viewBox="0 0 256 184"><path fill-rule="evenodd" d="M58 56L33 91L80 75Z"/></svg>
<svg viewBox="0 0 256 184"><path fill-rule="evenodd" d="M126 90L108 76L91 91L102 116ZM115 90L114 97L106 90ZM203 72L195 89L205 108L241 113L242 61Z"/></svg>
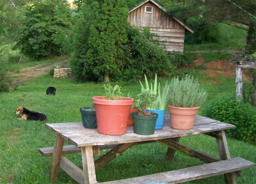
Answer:
<svg viewBox="0 0 256 184"><path fill-rule="evenodd" d="M227 145L227 138L225 134L225 130L217 131L217 135L219 138L216 138L218 148L219 148L219 156L221 160L230 159L229 146ZM225 174L225 180L227 184L236 184L235 175L232 173Z"/></svg>

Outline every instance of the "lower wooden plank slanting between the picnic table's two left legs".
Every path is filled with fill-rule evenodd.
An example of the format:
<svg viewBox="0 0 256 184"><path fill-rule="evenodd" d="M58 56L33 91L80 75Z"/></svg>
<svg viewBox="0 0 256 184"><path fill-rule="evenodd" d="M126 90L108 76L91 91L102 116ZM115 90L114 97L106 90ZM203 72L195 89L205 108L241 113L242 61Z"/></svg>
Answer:
<svg viewBox="0 0 256 184"><path fill-rule="evenodd" d="M83 170L73 164L66 157L61 156L60 168L63 169L70 177L72 177L77 183L83 184Z"/></svg>

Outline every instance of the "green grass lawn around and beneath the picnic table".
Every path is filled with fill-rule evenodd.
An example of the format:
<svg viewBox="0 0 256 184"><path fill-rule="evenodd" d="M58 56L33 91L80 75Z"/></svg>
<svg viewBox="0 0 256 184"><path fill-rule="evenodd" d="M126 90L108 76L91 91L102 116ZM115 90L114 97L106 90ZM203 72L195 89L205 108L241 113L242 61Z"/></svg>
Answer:
<svg viewBox="0 0 256 184"><path fill-rule="evenodd" d="M230 95L235 92L234 78L219 76L219 83L211 82L210 78L196 70L190 74L199 78L201 86L207 89L208 100L202 105L199 115L218 95ZM161 79L161 83L166 79ZM140 92L140 84L118 83L123 93L133 92L133 97ZM56 87L56 96L46 96L48 86ZM49 166L51 157L43 157L38 152L39 147L51 147L55 134L47 129L45 123L82 121L80 107L91 105L93 96L103 95L103 85L95 83L78 83L69 78L54 79L49 75L37 77L21 84L16 91L0 93L0 183L50 183ZM23 106L29 110L44 112L48 116L46 122L20 121L14 114L17 107ZM249 143L227 138L231 157L242 157L256 162L255 146ZM212 156L218 156L215 138L207 135L192 135L181 138L181 143L204 151ZM70 144L65 142L65 144ZM148 143L131 147L119 157L109 162L96 172L97 181L110 181L165 172L174 169L187 168L203 164L196 158L190 158L182 153L176 153L173 161L163 160L167 148L159 143ZM108 150L101 150L105 153ZM67 156L82 168L80 153ZM76 183L63 170L59 170L56 183ZM191 181L187 183L225 183L223 175ZM256 183L256 168L242 171L237 177L238 184Z"/></svg>

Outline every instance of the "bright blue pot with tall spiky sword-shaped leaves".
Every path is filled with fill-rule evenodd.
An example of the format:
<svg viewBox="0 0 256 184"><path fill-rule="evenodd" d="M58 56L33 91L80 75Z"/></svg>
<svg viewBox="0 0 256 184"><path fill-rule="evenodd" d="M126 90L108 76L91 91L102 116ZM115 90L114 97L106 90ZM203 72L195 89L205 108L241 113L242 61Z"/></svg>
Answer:
<svg viewBox="0 0 256 184"><path fill-rule="evenodd" d="M147 85L147 77L145 76L145 81L146 81L146 86ZM154 83L154 88L153 91L157 91L157 74L155 74L155 83ZM161 90L161 85L160 83L158 84L158 93L157 93L157 98L154 102L154 105L152 108L148 109L147 111L151 110L151 112L157 113L158 118L157 118L157 123L155 125L155 130L161 130L163 128L163 123L165 120L165 107L167 103L167 96L169 92L169 85L168 82L166 82L165 87L163 90Z"/></svg>

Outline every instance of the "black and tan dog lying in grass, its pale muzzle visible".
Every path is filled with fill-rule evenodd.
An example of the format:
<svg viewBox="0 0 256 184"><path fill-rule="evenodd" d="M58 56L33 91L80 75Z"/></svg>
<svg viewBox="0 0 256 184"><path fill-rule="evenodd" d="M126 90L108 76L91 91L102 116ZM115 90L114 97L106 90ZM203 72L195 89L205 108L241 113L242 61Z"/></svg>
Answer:
<svg viewBox="0 0 256 184"><path fill-rule="evenodd" d="M45 121L47 119L46 115L42 112L34 112L26 109L25 107L18 107L14 112L15 114L20 114L20 120L35 120L35 121Z"/></svg>

